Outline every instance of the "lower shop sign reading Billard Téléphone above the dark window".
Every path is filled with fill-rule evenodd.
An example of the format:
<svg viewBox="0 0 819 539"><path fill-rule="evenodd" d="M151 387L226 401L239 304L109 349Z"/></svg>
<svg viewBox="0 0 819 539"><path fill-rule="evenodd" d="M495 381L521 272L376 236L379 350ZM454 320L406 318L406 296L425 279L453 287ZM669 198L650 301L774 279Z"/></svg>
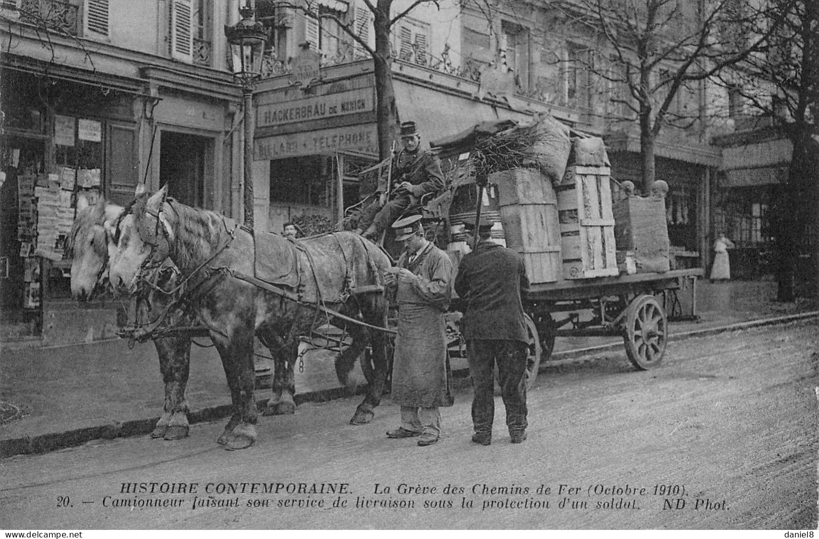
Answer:
<svg viewBox="0 0 819 539"><path fill-rule="evenodd" d="M345 151L378 156L378 130L375 124L348 125L256 138L253 146L256 161Z"/></svg>

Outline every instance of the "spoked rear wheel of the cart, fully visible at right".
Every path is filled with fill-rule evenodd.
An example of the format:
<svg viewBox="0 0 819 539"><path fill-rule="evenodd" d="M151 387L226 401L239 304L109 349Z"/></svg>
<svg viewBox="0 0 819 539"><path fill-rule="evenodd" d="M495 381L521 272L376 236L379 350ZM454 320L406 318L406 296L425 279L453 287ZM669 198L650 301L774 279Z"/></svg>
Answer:
<svg viewBox="0 0 819 539"><path fill-rule="evenodd" d="M628 306L623 328L626 355L640 370L656 367L663 360L668 342L668 321L657 298L643 294Z"/></svg>

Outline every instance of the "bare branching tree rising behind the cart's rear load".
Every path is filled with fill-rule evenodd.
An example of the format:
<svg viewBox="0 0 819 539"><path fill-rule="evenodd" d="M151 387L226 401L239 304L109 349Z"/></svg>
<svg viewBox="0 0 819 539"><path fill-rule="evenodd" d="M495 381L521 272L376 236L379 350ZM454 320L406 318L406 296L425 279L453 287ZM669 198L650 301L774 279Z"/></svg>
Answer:
<svg viewBox="0 0 819 539"><path fill-rule="evenodd" d="M745 38L763 16L736 0L573 0L563 12L593 29L600 54L575 61L614 92L613 104L636 116L640 128L643 190L654 183L655 143L663 127L704 120L704 106L679 106L681 93L734 66L766 43L769 31ZM683 96L685 97L685 96Z"/></svg>

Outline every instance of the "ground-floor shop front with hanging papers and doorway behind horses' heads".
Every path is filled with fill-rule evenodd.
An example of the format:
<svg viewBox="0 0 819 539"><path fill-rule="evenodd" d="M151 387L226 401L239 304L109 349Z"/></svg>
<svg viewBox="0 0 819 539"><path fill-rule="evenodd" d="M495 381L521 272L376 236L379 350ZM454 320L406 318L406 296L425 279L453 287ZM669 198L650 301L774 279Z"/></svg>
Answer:
<svg viewBox="0 0 819 539"><path fill-rule="evenodd" d="M78 201L125 205L137 184L167 184L192 206L232 215L229 101L155 84L44 75L7 61L0 141L0 341L35 345L115 337L127 300L70 294L66 238ZM232 89L232 88L230 88Z"/></svg>

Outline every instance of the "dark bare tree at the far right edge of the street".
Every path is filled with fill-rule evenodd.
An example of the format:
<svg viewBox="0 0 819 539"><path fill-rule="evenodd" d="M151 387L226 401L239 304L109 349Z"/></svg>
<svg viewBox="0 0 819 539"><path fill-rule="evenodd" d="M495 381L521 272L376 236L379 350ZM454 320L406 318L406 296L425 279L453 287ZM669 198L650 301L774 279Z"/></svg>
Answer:
<svg viewBox="0 0 819 539"><path fill-rule="evenodd" d="M794 301L799 254L810 255L812 297L819 299L819 2L770 0L766 46L744 58L735 70L715 77L739 93L749 106L770 118L793 144L785 183L777 186L772 208L780 301Z"/></svg>

